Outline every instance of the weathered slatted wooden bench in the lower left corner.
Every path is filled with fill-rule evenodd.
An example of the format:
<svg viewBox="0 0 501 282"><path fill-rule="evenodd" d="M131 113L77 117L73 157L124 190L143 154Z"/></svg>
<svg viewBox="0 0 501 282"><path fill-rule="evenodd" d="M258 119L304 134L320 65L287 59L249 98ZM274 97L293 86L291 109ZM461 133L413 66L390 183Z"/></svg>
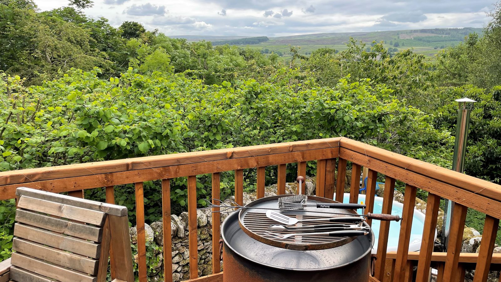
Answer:
<svg viewBox="0 0 501 282"><path fill-rule="evenodd" d="M113 281L134 281L127 208L30 188L16 196L7 279L106 281L111 248Z"/></svg>

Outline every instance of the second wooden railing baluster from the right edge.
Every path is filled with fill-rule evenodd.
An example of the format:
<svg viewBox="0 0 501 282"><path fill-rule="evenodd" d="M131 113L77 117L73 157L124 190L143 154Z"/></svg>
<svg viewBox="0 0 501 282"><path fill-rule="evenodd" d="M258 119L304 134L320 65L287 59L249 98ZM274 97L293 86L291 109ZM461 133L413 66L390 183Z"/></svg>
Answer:
<svg viewBox="0 0 501 282"><path fill-rule="evenodd" d="M467 208L460 204L454 204L452 210L452 220L450 225L449 243L447 246L447 257L445 258L445 269L443 272L443 282L455 281L457 275L457 265L459 253L463 239L464 222L466 220ZM438 282L442 282L438 281Z"/></svg>

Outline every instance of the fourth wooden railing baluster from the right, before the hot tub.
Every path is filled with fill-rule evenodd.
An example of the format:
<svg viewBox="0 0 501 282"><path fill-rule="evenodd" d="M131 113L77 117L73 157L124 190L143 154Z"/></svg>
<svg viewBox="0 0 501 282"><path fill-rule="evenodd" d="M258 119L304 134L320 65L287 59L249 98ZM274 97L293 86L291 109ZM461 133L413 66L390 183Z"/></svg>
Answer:
<svg viewBox="0 0 501 282"><path fill-rule="evenodd" d="M405 275L405 265L407 264L407 253L409 251L410 230L412 227L412 216L414 215L416 192L416 187L410 186L408 184L405 186L402 222L400 223L400 235L398 237L397 256L395 260L395 271L393 275L393 281L395 282L403 281Z"/></svg>

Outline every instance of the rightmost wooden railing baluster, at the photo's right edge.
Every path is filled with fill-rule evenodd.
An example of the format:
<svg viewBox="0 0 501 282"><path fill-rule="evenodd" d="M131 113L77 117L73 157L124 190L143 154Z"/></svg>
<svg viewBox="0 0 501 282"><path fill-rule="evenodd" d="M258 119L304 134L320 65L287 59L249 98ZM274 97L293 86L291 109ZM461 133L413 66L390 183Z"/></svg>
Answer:
<svg viewBox="0 0 501 282"><path fill-rule="evenodd" d="M489 273L490 261L492 259L492 249L494 248L498 226L499 219L488 215L485 216L482 241L480 243L478 259L476 261L473 282L487 281L487 274Z"/></svg>

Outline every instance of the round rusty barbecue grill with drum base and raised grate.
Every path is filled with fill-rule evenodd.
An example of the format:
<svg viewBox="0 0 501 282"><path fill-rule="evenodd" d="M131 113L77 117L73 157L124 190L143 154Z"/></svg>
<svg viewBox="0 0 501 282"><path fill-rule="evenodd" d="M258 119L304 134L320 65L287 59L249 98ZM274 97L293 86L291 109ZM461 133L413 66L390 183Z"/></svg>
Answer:
<svg viewBox="0 0 501 282"><path fill-rule="evenodd" d="M367 281L374 242L372 232L353 237L314 235L279 239L270 236L266 232L267 227L277 222L267 218L266 209L261 208L278 208L280 197L283 196L258 199L246 205L247 208L233 212L223 222L221 235L225 281ZM337 203L308 196L308 203L316 202ZM310 207L301 211L280 212L298 219L315 220L291 227L332 223L325 220L335 216L332 212L358 215L354 210ZM367 228L368 224L362 222L361 226ZM277 233L291 232L286 230Z"/></svg>

